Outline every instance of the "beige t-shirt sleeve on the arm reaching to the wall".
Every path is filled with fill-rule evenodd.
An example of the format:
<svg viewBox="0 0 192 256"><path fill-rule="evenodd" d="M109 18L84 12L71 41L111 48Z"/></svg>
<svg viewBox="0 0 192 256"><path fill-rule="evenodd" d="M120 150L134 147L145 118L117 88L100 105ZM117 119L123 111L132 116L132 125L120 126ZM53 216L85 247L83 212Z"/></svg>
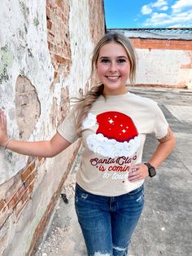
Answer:
<svg viewBox="0 0 192 256"><path fill-rule="evenodd" d="M63 137L63 139L68 140L70 143L74 143L76 139L79 138L79 135L76 132L76 115L74 108L57 127L57 131L59 132L59 135Z"/></svg>

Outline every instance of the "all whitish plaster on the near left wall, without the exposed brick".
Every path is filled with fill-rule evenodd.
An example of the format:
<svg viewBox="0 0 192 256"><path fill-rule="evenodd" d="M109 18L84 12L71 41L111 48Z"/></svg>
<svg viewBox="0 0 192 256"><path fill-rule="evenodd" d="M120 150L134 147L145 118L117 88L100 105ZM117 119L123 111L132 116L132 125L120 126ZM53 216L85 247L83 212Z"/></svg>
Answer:
<svg viewBox="0 0 192 256"><path fill-rule="evenodd" d="M89 34L89 2L70 0L69 30L72 67L68 77L60 74L59 82L54 85L55 70L51 64L47 44L46 1L21 2L18 0L15 1L13 8L7 0L3 2L0 20L4 17L7 22L2 25L1 46L7 46L7 51L12 57L7 61L8 78L0 84L0 108L4 108L7 113L9 135L19 139L14 99L17 77L22 75L27 77L35 87L41 105L40 116L28 140L48 139L55 133L56 125L55 120L54 123L52 122L50 113L54 111L59 117L61 97L65 95L68 100L68 92L70 97L78 96L80 91L85 90L84 87L89 78L90 53L94 46ZM66 103L63 102L63 104ZM0 254L21 256L28 252L34 231L61 182L63 169L68 169L73 152L74 148L70 147L62 155L47 158L46 161L42 159L37 164L38 171L35 173L31 194L33 200L28 198L28 203L24 205L25 209L18 216L15 213L7 216L6 222L3 223L1 237L4 241L1 244ZM28 157L0 150L0 168L3 170L0 180L2 199L9 197L7 193L12 195L11 187L14 185L19 188L20 175L16 173L22 170L27 161ZM7 182L4 183L6 180ZM16 191L15 187L14 189ZM9 210L4 214L7 213ZM2 214L1 217L5 216Z"/></svg>

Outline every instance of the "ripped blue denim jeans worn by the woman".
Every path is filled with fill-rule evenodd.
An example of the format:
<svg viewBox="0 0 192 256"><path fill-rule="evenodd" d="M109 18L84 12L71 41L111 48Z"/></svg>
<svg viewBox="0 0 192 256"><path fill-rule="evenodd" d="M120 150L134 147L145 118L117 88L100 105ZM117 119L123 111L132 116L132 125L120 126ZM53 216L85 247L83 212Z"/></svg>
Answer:
<svg viewBox="0 0 192 256"><path fill-rule="evenodd" d="M76 184L76 214L88 255L127 255L143 204L143 185L121 196L97 196Z"/></svg>

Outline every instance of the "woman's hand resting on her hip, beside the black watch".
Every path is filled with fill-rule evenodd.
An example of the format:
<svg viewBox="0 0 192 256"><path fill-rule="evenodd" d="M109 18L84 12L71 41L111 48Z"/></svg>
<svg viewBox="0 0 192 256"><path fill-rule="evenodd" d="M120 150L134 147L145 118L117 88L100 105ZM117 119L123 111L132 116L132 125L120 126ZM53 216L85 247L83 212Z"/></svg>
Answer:
<svg viewBox="0 0 192 256"><path fill-rule="evenodd" d="M140 179L146 179L149 176L148 167L144 164L139 164L132 167L132 170L129 171L129 181L135 182Z"/></svg>

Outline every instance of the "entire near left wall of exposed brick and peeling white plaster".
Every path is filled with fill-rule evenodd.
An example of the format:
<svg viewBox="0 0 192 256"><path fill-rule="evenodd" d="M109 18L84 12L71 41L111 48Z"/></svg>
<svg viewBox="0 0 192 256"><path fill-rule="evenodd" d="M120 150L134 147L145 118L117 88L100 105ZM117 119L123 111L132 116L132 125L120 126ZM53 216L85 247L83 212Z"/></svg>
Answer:
<svg viewBox="0 0 192 256"><path fill-rule="evenodd" d="M0 20L0 108L9 135L50 139L70 97L89 84L90 55L105 29L103 1L6 0ZM0 255L32 254L80 143L54 158L0 149Z"/></svg>

